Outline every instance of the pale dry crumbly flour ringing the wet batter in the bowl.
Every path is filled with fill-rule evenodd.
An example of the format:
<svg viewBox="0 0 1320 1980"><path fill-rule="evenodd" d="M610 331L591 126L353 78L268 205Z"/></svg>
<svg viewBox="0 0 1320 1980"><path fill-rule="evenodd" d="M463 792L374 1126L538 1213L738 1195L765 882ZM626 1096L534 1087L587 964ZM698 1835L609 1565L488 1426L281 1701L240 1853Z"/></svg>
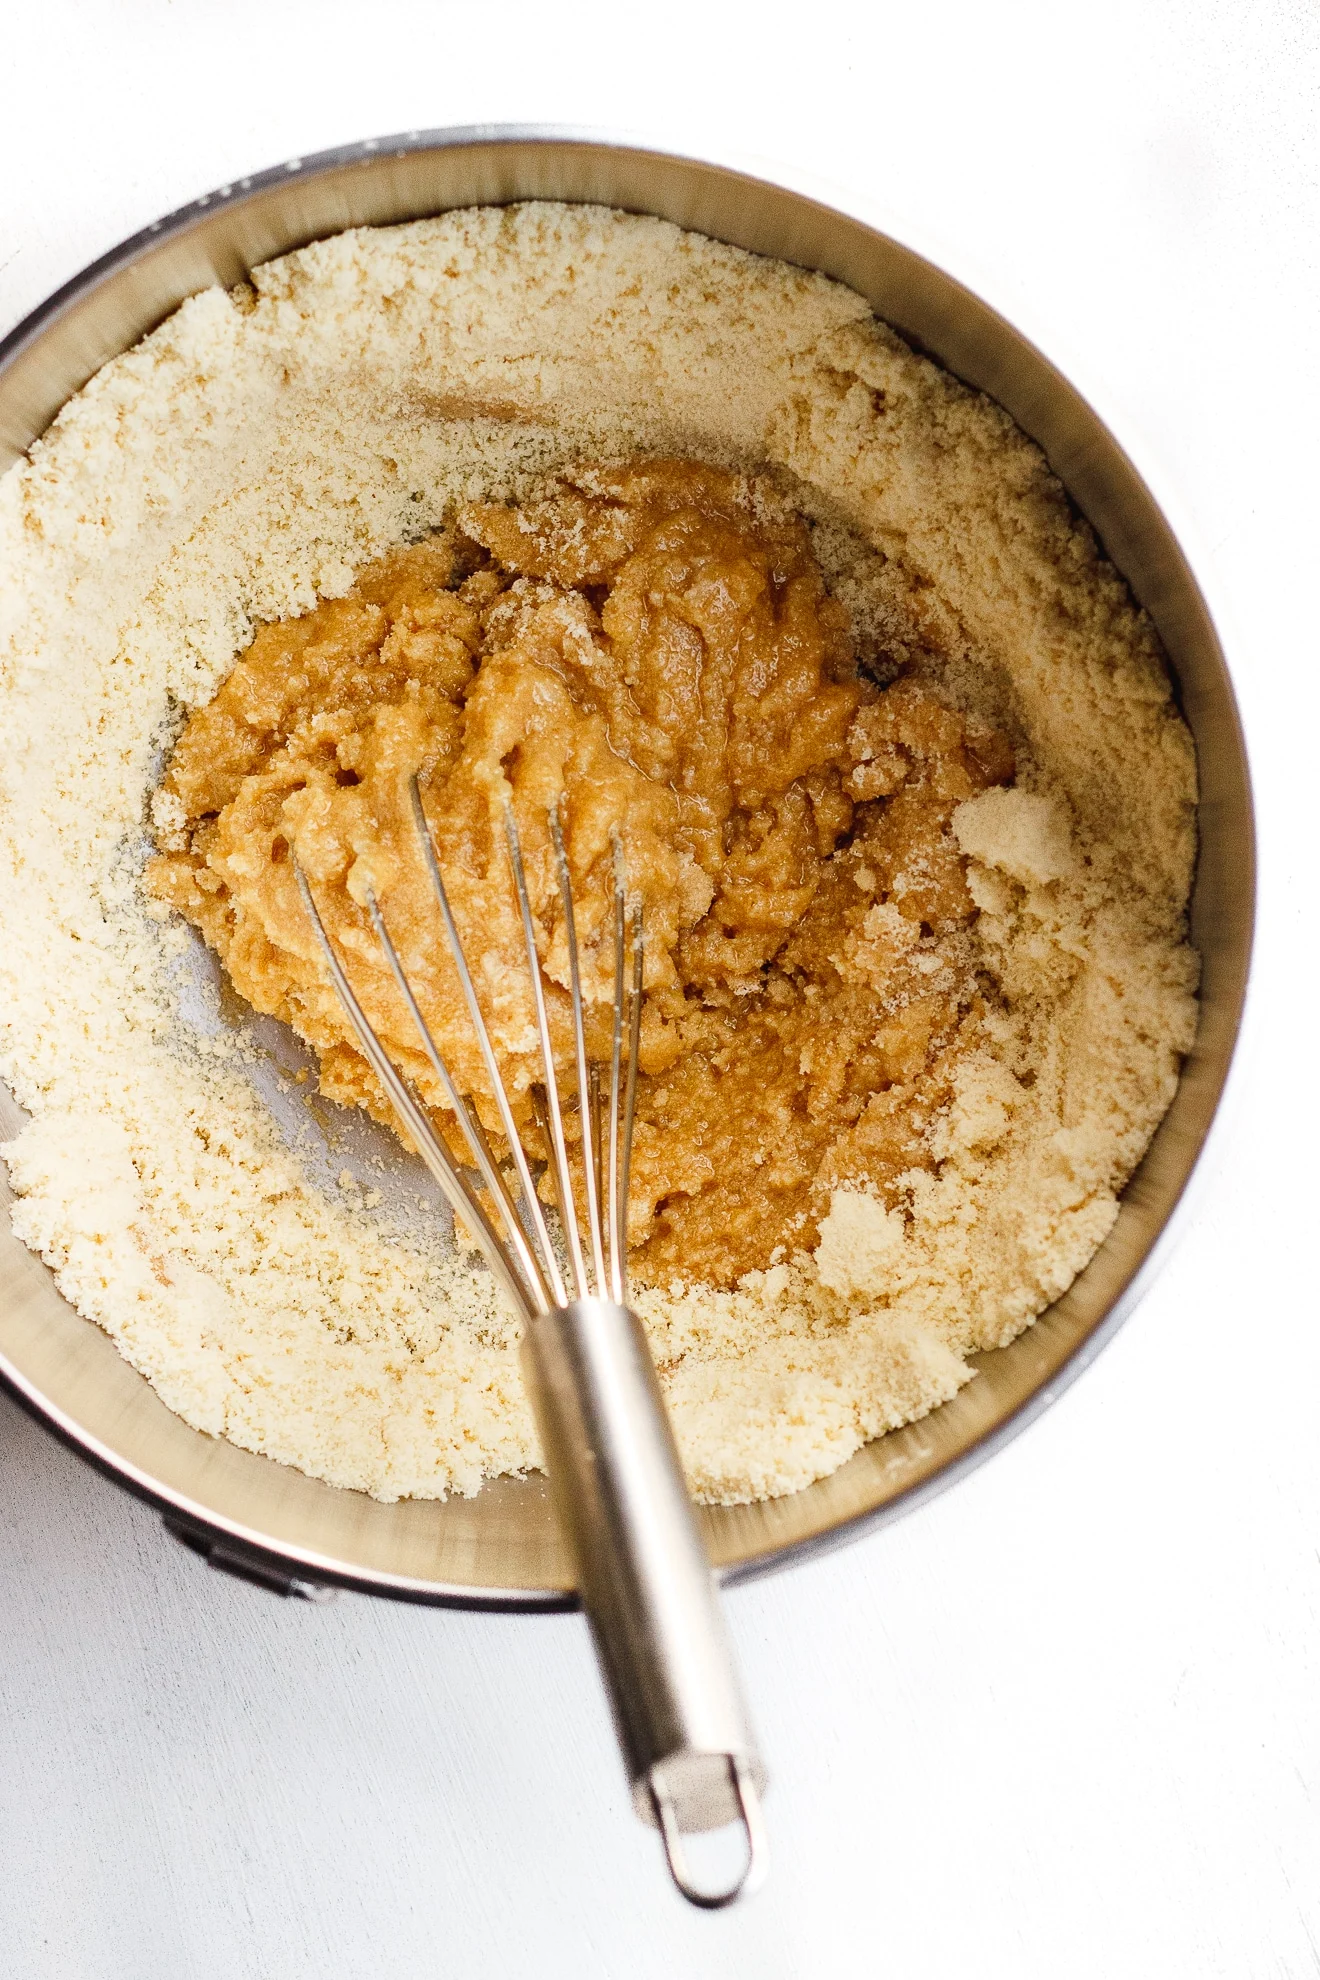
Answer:
<svg viewBox="0 0 1320 1980"><path fill-rule="evenodd" d="M813 1251L732 1291L639 1299L695 1491L805 1485L1029 1325L1110 1230L1195 1028L1195 764L1154 630L1041 453L857 295L522 206L194 297L0 483L14 1226L190 1424L380 1499L538 1461L517 1327L443 1232L352 1170L321 1186L241 1030L192 1022L190 937L141 885L148 804L261 624L457 505L635 455L774 485L877 677L906 669L1017 762L952 818L993 996L934 1160L885 1200L835 1190Z"/></svg>

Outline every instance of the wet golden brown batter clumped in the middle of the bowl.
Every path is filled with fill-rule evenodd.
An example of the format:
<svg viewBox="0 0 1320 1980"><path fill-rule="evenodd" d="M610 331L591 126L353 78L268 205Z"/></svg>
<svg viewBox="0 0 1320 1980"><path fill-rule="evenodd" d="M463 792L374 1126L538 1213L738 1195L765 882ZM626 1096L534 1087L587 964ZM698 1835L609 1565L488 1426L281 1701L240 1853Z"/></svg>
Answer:
<svg viewBox="0 0 1320 1980"><path fill-rule="evenodd" d="M317 1047L332 1099L392 1123L307 925L297 845L368 1016L443 1125L362 907L370 881L459 1087L495 1129L416 849L414 772L534 1154L503 804L564 1067L548 806L564 796L602 1059L621 830L647 921L629 1206L643 1279L732 1285L811 1245L831 1186L893 1204L906 1172L936 1166L984 1010L950 818L1011 780L1011 750L912 679L859 675L807 529L754 483L661 461L582 469L522 509L467 507L346 598L263 628L180 737L148 889L251 1004Z"/></svg>

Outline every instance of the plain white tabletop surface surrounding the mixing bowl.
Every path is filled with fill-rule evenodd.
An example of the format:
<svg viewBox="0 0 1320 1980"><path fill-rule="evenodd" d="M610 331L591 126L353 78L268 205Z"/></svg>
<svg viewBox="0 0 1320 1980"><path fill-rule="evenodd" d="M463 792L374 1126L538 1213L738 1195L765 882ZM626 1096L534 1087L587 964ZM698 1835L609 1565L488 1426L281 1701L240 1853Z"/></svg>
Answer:
<svg viewBox="0 0 1320 1980"><path fill-rule="evenodd" d="M819 174L1063 364L1197 560L1263 923L1199 1216L1098 1366L902 1525L728 1598L772 1883L691 1915L584 1626L281 1604L0 1402L14 1980L1320 1972L1320 12L1304 0L12 0L0 319L410 127Z"/></svg>

